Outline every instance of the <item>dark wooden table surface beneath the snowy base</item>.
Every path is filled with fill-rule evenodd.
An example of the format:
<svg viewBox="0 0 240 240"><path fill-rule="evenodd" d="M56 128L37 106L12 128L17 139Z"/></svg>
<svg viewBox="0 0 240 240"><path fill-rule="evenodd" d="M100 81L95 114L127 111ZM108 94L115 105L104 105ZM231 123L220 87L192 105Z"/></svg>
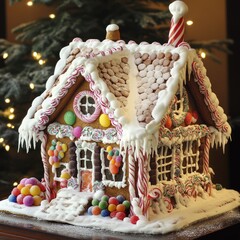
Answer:
<svg viewBox="0 0 240 240"><path fill-rule="evenodd" d="M187 239L240 239L240 209L190 225L166 235L123 234L62 223L47 222L35 218L15 216L0 212L0 239L104 239L104 240L187 240ZM224 238L221 238L225 236ZM236 238L237 237L237 238Z"/></svg>

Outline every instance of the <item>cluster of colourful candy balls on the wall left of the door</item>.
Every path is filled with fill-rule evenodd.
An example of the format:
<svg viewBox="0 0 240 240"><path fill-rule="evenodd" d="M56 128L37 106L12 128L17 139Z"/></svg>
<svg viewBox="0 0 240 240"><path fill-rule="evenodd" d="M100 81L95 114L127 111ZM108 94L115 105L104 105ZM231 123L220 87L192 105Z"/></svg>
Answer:
<svg viewBox="0 0 240 240"><path fill-rule="evenodd" d="M54 168L60 167L60 160L64 158L67 151L67 145L65 143L57 142L56 139L52 140L52 145L48 149L49 163Z"/></svg>

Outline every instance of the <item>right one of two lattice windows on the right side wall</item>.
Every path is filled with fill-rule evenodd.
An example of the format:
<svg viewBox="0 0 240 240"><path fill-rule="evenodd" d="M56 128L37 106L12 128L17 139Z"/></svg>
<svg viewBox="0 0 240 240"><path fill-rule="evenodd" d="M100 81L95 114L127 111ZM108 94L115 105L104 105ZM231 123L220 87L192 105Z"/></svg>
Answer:
<svg viewBox="0 0 240 240"><path fill-rule="evenodd" d="M199 169L200 139L187 141L182 144L181 174L192 173Z"/></svg>

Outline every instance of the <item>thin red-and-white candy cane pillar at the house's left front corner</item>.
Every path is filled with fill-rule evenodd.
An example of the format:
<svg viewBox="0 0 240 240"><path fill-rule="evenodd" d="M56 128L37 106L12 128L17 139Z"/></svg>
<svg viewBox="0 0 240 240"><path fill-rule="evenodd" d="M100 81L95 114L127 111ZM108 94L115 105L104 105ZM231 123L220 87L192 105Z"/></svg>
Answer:
<svg viewBox="0 0 240 240"><path fill-rule="evenodd" d="M50 187L50 177L49 177L49 173L48 173L48 168L49 168L49 163L48 163L48 155L46 152L46 146L47 146L47 135L43 134L41 137L41 157L42 157L42 162L43 162L43 169L44 169L44 180L46 183L46 199L47 201L51 201L52 197L51 197L51 187Z"/></svg>

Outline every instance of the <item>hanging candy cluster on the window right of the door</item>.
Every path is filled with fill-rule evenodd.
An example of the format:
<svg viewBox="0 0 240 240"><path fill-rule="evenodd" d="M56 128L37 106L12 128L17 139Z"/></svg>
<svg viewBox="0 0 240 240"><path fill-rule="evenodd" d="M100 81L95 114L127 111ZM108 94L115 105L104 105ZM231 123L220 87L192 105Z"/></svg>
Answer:
<svg viewBox="0 0 240 240"><path fill-rule="evenodd" d="M119 168L122 166L122 156L118 149L113 149L111 146L107 147L107 159L110 161L109 170L112 174L118 174Z"/></svg>

